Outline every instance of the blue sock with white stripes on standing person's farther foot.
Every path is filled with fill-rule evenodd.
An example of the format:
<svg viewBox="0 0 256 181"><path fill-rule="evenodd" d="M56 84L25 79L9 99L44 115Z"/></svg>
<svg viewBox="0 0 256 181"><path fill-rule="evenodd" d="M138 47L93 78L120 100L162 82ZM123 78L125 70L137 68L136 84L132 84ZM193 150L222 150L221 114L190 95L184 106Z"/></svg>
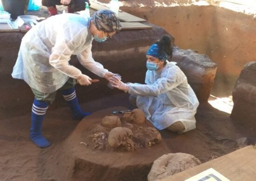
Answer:
<svg viewBox="0 0 256 181"><path fill-rule="evenodd" d="M81 110L74 87L66 90L61 90L61 93L72 111L72 117L74 120L81 120L85 116L89 116L92 114L91 112L83 112Z"/></svg>

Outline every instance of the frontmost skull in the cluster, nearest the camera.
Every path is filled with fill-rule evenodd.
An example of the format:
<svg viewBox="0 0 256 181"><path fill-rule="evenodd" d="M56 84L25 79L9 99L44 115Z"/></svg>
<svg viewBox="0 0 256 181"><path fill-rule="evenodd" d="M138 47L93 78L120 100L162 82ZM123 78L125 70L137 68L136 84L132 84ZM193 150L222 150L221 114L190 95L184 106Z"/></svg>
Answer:
<svg viewBox="0 0 256 181"><path fill-rule="evenodd" d="M134 142L131 140L133 132L131 129L116 127L111 129L108 135L108 144L115 149L120 148L125 151L134 150Z"/></svg>

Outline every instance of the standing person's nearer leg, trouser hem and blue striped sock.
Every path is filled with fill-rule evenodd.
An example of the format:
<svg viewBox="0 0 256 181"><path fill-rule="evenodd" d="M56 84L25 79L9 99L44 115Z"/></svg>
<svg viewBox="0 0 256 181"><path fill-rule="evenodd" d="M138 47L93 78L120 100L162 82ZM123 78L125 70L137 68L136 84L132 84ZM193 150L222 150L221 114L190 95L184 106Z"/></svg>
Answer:
<svg viewBox="0 0 256 181"><path fill-rule="evenodd" d="M47 148L51 146L49 142L42 135L42 123L47 112L49 102L54 101L56 92L53 93L42 93L31 88L35 97L32 105L31 112L31 128L29 138L34 144L40 148Z"/></svg>

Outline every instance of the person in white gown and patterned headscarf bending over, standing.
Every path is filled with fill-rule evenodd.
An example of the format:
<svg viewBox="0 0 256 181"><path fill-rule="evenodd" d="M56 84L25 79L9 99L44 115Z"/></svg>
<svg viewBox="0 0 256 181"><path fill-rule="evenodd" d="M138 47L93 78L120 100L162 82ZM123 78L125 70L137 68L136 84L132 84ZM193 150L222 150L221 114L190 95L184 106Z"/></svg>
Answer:
<svg viewBox="0 0 256 181"><path fill-rule="evenodd" d="M92 41L105 41L121 30L116 14L109 10L97 11L93 18L64 13L52 16L29 30L23 37L13 78L23 79L34 93L30 140L40 148L51 143L41 134L41 127L48 104L61 90L72 110L73 119L81 120L90 115L79 106L74 85L90 85L92 79L69 65L71 55L77 55L81 65L99 77L115 74L104 69L92 58Z"/></svg>

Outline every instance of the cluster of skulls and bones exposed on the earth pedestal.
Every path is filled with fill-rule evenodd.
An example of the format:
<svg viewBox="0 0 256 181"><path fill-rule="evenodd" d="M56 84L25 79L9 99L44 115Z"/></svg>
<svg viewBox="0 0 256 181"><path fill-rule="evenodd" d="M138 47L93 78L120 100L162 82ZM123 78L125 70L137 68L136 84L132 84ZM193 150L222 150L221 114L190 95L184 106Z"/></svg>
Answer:
<svg viewBox="0 0 256 181"><path fill-rule="evenodd" d="M104 116L101 123L89 127L88 145L93 149L135 151L151 148L162 140L161 134L145 119L139 109L125 112L121 116Z"/></svg>

